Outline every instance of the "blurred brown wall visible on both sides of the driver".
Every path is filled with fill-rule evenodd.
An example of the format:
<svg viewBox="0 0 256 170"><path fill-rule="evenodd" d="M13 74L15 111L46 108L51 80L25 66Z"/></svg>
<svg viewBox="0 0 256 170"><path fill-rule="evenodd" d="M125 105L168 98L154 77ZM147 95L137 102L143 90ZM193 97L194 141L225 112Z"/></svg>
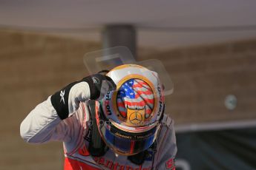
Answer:
<svg viewBox="0 0 256 170"><path fill-rule="evenodd" d="M62 169L62 143L28 145L19 125L36 104L87 75L85 52L100 44L50 35L0 30L0 169ZM256 41L177 50L139 51L158 58L174 81L166 112L177 124L256 118ZM237 96L234 111L223 105Z"/></svg>

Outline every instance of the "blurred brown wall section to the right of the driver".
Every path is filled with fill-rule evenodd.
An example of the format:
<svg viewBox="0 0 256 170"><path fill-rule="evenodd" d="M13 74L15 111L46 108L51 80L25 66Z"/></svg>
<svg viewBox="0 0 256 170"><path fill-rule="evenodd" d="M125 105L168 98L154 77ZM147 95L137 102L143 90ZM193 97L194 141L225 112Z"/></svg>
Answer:
<svg viewBox="0 0 256 170"><path fill-rule="evenodd" d="M177 124L256 118L255 40L166 50L145 57L163 61L174 81L166 112ZM232 111L224 105L227 95L237 98Z"/></svg>

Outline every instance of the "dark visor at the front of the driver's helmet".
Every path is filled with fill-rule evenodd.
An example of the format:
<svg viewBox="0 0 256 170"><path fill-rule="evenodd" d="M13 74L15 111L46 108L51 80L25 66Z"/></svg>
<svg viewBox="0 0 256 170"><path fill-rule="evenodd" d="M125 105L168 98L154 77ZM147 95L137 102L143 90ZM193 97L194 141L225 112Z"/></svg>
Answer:
<svg viewBox="0 0 256 170"><path fill-rule="evenodd" d="M132 155L148 149L157 137L159 126L148 132L131 133L105 123L100 129L105 143L118 154Z"/></svg>

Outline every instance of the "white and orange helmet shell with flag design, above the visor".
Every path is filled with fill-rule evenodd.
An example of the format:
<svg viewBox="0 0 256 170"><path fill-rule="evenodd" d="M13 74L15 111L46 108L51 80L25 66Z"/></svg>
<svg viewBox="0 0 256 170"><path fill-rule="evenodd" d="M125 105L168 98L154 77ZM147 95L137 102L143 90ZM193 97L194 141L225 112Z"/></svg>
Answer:
<svg viewBox="0 0 256 170"><path fill-rule="evenodd" d="M159 122L164 96L157 72L136 64L124 64L111 69L107 75L116 84L116 90L108 92L101 101L105 118L127 132L144 132ZM138 114L140 120L134 121L139 118Z"/></svg>

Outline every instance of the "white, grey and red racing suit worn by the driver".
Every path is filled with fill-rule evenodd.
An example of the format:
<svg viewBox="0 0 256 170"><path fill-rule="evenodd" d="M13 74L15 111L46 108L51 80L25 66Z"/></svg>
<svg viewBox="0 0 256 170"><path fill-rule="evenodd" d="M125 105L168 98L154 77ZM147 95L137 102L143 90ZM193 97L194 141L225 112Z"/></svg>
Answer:
<svg viewBox="0 0 256 170"><path fill-rule="evenodd" d="M27 143L47 143L62 141L65 152L65 170L70 169L114 169L146 170L175 169L174 157L177 153L174 121L164 115L155 149L149 148L142 165L136 165L127 156L117 155L111 149L102 157L92 157L88 152L91 114L88 102L80 102L73 115L61 120L50 102L40 103L21 124L21 136Z"/></svg>

